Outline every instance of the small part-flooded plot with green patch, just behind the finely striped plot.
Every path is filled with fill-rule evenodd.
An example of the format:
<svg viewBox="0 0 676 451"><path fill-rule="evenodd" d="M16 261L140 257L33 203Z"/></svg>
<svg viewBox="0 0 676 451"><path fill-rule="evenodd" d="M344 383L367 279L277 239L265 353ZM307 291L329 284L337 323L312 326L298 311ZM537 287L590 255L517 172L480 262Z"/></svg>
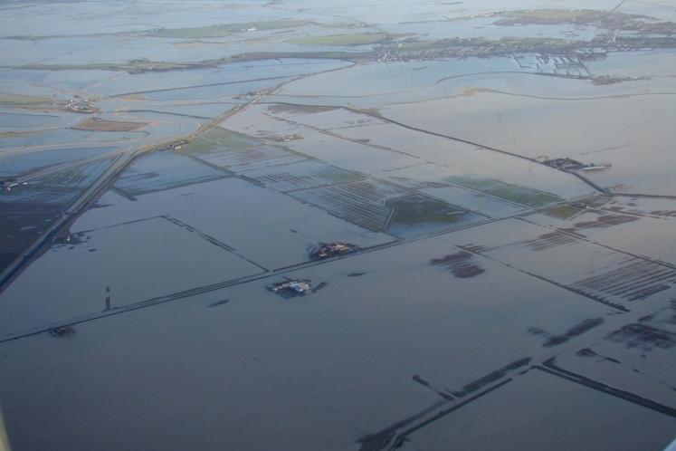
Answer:
<svg viewBox="0 0 676 451"><path fill-rule="evenodd" d="M243 178L281 192L357 182L365 179L364 176L356 172L310 159L287 165L252 169L243 173Z"/></svg>

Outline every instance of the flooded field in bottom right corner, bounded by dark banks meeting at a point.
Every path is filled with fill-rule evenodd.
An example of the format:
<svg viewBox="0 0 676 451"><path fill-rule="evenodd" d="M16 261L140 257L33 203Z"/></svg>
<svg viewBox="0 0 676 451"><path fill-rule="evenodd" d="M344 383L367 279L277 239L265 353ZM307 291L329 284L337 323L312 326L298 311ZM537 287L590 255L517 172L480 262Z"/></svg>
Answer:
<svg viewBox="0 0 676 451"><path fill-rule="evenodd" d="M675 427L668 415L531 370L406 435L401 449L657 450Z"/></svg>

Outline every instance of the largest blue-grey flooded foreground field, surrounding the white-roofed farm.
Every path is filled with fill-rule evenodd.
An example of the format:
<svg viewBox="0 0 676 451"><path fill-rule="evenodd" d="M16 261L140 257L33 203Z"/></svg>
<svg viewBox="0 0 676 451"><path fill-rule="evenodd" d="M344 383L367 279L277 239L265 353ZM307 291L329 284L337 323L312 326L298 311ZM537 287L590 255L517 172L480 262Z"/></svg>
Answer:
<svg viewBox="0 0 676 451"><path fill-rule="evenodd" d="M475 258L484 270L476 277L431 264L456 253L442 240L421 240L284 273L327 283L291 302L266 290L279 280L274 275L78 324L65 341L42 334L4 343L7 420L33 415L47 425L48 434L21 436L31 450L153 449L160 442L182 449L165 441L167 421L179 425L172 443L188 434L190 450L223 443L250 451L356 450L365 436L448 402L418 380L462 389L509 362L538 358L533 353L544 349L529 328L566 331L581 315L610 311L485 258ZM290 365L290 356L303 358ZM45 403L45 393L54 402ZM69 415L60 415L64 403ZM159 420L135 428L148 411ZM85 445L81 425L97 426ZM119 430L138 435L120 437Z"/></svg>

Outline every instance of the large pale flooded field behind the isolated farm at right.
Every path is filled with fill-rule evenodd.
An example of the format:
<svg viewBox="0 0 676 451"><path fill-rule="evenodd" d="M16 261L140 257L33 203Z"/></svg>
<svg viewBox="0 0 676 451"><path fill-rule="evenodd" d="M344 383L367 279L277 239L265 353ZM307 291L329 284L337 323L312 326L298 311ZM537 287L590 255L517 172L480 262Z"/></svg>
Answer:
<svg viewBox="0 0 676 451"><path fill-rule="evenodd" d="M415 127L528 158L575 158L592 165L609 164L612 168L584 176L616 192L671 196L672 178L666 168L673 167L669 143L676 137L667 124L676 120L671 108L676 87L656 83L654 88L636 86L632 91L586 92L557 99L529 88L483 88L472 96L395 105L380 111ZM554 86L550 89L559 91ZM651 114L645 115L646 110ZM429 111L444 120L437 123L428 116ZM527 119L529 114L532 116ZM620 130L616 128L618 120L626 124ZM527 125L521 128L519 124ZM485 130L490 130L489 136ZM636 150L639 148L641 151Z"/></svg>

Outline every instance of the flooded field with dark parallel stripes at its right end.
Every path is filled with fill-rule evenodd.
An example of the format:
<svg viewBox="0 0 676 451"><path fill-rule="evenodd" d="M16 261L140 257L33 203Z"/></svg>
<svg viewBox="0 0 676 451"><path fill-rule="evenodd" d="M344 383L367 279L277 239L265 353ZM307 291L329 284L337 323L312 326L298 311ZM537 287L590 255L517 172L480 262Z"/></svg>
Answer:
<svg viewBox="0 0 676 451"><path fill-rule="evenodd" d="M676 293L676 270L525 221L505 220L444 235L456 245L509 264L620 310Z"/></svg>

